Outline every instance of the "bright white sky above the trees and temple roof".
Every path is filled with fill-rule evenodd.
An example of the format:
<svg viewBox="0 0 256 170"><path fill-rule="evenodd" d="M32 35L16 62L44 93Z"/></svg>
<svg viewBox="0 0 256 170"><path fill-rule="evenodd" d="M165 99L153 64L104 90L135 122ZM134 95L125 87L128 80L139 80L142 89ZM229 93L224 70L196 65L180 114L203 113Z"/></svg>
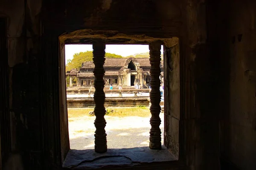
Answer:
<svg viewBox="0 0 256 170"><path fill-rule="evenodd" d="M79 52L93 51L93 45L65 45L65 60L73 59L73 55ZM136 53L149 52L148 45L106 45L106 53L121 55L123 57ZM163 54L163 45L161 48Z"/></svg>

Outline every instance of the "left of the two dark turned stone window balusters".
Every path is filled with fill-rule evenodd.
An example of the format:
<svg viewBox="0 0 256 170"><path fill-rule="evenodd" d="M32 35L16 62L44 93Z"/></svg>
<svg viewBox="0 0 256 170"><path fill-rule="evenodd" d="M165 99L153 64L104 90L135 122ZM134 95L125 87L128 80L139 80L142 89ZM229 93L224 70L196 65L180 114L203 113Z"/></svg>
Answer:
<svg viewBox="0 0 256 170"><path fill-rule="evenodd" d="M105 153L107 152L107 134L105 131L106 121L105 121L105 93L104 93L104 85L105 81L103 76L105 74L105 70L103 68L105 62L105 44L101 41L93 42L93 63L95 65L93 74L95 77L94 80L94 114L96 119L94 121L94 125L96 127L95 131L95 152L97 153Z"/></svg>

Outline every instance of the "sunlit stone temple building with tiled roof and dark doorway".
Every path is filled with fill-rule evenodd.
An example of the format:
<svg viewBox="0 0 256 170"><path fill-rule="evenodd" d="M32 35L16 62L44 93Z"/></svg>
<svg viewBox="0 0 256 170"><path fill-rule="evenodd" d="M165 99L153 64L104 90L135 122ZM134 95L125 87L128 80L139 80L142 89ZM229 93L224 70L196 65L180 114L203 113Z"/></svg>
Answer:
<svg viewBox="0 0 256 170"><path fill-rule="evenodd" d="M70 87L73 87L72 79L76 77L78 87L92 87L94 81L93 61L83 62L80 70L76 68L67 71L66 77L70 77ZM160 63L161 82L163 82L163 60ZM124 87L141 84L141 88L148 88L150 82L149 58L106 58L105 84L122 85ZM68 80L67 80L68 81Z"/></svg>

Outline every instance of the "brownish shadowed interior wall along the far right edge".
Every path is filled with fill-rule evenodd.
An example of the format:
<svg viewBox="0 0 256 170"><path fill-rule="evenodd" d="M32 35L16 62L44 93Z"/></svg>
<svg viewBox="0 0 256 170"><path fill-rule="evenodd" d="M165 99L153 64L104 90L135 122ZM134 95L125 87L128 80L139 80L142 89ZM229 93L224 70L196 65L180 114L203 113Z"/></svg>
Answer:
<svg viewBox="0 0 256 170"><path fill-rule="evenodd" d="M222 3L221 156L256 169L256 2ZM225 76L225 77L224 77ZM221 86L223 87L221 90Z"/></svg>

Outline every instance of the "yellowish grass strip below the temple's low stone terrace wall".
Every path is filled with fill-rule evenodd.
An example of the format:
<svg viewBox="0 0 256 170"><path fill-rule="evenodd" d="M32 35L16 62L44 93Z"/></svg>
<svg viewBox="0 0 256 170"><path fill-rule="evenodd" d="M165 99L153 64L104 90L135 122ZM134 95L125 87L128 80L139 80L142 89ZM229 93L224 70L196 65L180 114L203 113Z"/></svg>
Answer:
<svg viewBox="0 0 256 170"><path fill-rule="evenodd" d="M83 109L68 109L68 117L81 117L81 116L89 116L89 112L93 111L94 108L83 108ZM112 111L113 110L113 111ZM106 108L106 115L108 116L140 116L140 117L148 117L151 115L150 110L146 106L137 106L137 107L129 107L129 108Z"/></svg>

